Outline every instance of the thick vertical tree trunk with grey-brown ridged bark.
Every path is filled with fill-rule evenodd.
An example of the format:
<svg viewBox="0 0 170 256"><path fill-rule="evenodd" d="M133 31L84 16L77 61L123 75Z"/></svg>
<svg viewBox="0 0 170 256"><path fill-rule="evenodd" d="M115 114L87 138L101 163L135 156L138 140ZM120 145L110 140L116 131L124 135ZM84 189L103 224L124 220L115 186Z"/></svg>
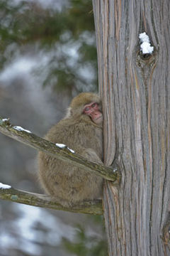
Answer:
<svg viewBox="0 0 170 256"><path fill-rule="evenodd" d="M170 1L93 5L105 162L123 174L103 191L109 255L170 255ZM140 53L144 31L151 55Z"/></svg>

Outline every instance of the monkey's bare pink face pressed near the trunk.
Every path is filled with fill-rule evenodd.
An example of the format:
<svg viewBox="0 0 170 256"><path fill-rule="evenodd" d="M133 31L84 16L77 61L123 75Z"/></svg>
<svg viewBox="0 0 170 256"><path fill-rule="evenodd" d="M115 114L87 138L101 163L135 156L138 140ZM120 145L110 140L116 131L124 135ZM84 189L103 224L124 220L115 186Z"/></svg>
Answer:
<svg viewBox="0 0 170 256"><path fill-rule="evenodd" d="M95 124L101 124L103 122L103 114L99 110L97 102L91 102L90 104L85 105L83 112L91 117Z"/></svg>

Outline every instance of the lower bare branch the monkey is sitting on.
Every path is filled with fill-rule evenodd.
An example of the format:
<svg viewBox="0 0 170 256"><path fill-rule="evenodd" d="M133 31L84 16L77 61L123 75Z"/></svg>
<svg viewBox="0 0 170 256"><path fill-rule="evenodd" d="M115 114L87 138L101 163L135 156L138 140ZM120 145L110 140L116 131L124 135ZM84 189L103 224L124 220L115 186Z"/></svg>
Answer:
<svg viewBox="0 0 170 256"><path fill-rule="evenodd" d="M45 196L38 193L30 193L28 191L21 191L15 188L0 188L0 198L16 203L24 203L29 206L65 210L73 213L86 213L91 215L103 214L101 200L86 201L72 208L66 208L63 207L60 203L52 200L50 196Z"/></svg>

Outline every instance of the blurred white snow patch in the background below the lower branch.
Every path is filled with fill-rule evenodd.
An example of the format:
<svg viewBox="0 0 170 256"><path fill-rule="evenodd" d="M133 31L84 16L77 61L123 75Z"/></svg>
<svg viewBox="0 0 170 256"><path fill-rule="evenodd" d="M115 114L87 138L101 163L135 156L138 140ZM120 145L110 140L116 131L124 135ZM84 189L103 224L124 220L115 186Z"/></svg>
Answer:
<svg viewBox="0 0 170 256"><path fill-rule="evenodd" d="M16 204L13 213L16 213L18 218L6 218L1 225L1 255L9 255L7 250L13 248L22 251L22 255L40 256L44 253L43 245L57 248L63 237L73 241L77 233L72 225L63 223L62 218L52 215L45 208ZM9 232L11 227L15 229L16 235Z"/></svg>

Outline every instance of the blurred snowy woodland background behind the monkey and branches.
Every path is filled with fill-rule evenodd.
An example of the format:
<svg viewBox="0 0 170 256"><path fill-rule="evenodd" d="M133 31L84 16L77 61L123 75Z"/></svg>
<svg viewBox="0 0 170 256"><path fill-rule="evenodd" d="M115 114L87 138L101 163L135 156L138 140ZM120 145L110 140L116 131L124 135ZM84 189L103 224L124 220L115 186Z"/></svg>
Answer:
<svg viewBox="0 0 170 256"><path fill-rule="evenodd" d="M0 115L39 136L97 90L91 0L1 0ZM37 151L0 134L0 182L43 193ZM106 255L103 218L1 201L0 256Z"/></svg>

